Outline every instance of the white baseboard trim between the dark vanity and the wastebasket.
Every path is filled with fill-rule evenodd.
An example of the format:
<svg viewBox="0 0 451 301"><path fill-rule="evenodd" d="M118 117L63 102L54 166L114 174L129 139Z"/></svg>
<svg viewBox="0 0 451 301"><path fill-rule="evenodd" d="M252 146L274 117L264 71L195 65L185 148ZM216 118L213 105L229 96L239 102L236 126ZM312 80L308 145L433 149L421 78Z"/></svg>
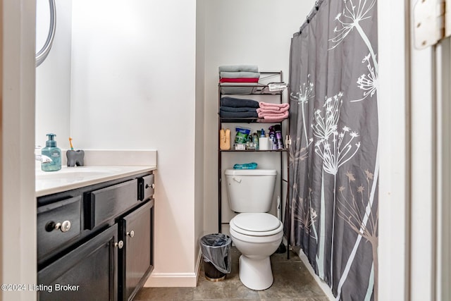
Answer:
<svg viewBox="0 0 451 301"><path fill-rule="evenodd" d="M152 272L144 283L144 288L195 288L200 274L201 262L202 253L199 252L194 273Z"/></svg>

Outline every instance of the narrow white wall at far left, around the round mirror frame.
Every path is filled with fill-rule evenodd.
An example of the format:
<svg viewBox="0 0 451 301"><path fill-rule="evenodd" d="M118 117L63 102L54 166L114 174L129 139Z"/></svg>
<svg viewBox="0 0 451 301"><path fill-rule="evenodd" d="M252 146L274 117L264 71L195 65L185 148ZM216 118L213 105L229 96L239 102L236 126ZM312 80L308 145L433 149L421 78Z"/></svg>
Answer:
<svg viewBox="0 0 451 301"><path fill-rule="evenodd" d="M70 136L70 51L72 0L55 1L56 32L47 59L36 68L35 145L45 146L46 134L56 134L58 147L68 149ZM36 51L49 32L49 1L36 1Z"/></svg>

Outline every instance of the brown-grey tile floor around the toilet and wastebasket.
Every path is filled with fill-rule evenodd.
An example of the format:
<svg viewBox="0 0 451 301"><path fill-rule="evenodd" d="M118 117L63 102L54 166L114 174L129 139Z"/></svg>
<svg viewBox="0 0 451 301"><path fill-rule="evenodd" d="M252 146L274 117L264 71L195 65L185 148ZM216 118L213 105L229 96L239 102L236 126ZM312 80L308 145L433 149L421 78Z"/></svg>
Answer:
<svg viewBox="0 0 451 301"><path fill-rule="evenodd" d="M225 280L207 281L202 264L196 288L142 288L134 300L329 301L295 252L291 251L290 259L287 259L286 252L273 254L273 285L266 290L256 291L242 285L238 276L240 252L235 247L231 251L232 271Z"/></svg>

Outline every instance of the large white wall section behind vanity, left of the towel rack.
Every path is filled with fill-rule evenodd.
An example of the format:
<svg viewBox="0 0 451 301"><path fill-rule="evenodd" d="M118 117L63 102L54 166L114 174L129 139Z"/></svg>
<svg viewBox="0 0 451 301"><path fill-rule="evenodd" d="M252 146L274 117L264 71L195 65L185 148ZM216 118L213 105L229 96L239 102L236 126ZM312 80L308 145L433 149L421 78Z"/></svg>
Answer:
<svg viewBox="0 0 451 301"><path fill-rule="evenodd" d="M73 1L77 147L158 150L152 286L196 283L195 25L194 0Z"/></svg>

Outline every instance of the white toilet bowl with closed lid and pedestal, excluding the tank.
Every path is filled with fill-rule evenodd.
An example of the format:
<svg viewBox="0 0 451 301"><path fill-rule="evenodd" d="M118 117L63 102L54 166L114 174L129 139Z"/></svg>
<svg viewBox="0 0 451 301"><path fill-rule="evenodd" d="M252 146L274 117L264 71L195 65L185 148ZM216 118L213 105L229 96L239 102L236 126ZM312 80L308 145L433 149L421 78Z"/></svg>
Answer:
<svg viewBox="0 0 451 301"><path fill-rule="evenodd" d="M283 238L283 223L267 213L242 213L230 221L230 237L240 256L240 281L252 290L273 284L269 257Z"/></svg>

